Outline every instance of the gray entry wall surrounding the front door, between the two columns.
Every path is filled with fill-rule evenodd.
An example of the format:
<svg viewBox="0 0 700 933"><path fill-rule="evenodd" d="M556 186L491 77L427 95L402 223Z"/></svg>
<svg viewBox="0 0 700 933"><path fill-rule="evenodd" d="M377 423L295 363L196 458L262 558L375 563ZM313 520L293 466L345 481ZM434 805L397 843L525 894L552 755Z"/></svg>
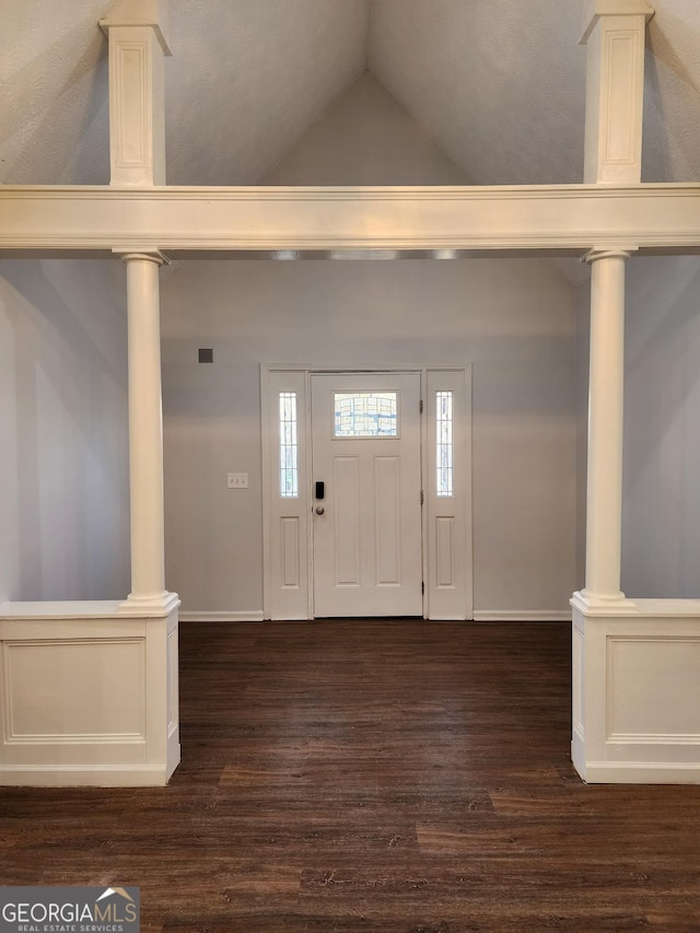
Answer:
<svg viewBox="0 0 700 933"><path fill-rule="evenodd" d="M260 362L471 362L475 608L567 608L575 316L549 264L201 261L162 294L166 575L184 609L261 608ZM228 471L250 488L228 490Z"/></svg>

